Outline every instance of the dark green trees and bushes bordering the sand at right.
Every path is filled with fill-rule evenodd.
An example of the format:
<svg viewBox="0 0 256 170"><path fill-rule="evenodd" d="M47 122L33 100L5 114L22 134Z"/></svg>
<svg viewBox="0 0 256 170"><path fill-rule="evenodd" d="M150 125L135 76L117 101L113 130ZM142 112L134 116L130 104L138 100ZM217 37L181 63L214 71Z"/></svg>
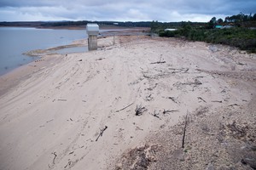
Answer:
<svg viewBox="0 0 256 170"><path fill-rule="evenodd" d="M226 44L256 53L256 15L237 14L226 17L225 20L212 20L205 24L191 22L183 23L176 31L165 31L165 24L154 23L152 31L160 37L183 37L189 41L203 41ZM229 28L217 29L215 26L230 26Z"/></svg>

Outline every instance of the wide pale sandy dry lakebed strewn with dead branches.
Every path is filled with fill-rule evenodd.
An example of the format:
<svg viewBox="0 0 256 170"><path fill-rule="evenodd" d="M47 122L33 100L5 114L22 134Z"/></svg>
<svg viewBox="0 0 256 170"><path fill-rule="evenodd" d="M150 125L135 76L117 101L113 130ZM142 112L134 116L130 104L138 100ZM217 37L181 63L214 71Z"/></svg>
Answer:
<svg viewBox="0 0 256 170"><path fill-rule="evenodd" d="M172 38L115 42L0 77L0 169L252 167L224 149L255 145L255 54Z"/></svg>

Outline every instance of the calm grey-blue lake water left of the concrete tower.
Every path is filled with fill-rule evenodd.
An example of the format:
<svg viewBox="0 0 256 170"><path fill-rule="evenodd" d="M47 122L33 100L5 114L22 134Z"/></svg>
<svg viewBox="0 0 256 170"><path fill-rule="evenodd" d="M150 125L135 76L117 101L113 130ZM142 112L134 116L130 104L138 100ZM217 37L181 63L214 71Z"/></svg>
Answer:
<svg viewBox="0 0 256 170"><path fill-rule="evenodd" d="M23 53L34 49L67 45L73 40L87 38L84 30L52 30L22 27L0 27L0 75L26 65L38 57ZM64 48L61 54L85 52L86 47Z"/></svg>

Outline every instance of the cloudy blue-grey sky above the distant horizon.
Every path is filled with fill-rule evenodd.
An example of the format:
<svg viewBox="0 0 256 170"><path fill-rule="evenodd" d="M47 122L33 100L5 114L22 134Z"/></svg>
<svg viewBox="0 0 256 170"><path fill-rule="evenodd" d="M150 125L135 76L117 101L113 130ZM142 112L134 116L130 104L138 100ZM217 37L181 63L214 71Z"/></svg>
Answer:
<svg viewBox="0 0 256 170"><path fill-rule="evenodd" d="M0 21L209 21L256 13L256 0L0 0Z"/></svg>

